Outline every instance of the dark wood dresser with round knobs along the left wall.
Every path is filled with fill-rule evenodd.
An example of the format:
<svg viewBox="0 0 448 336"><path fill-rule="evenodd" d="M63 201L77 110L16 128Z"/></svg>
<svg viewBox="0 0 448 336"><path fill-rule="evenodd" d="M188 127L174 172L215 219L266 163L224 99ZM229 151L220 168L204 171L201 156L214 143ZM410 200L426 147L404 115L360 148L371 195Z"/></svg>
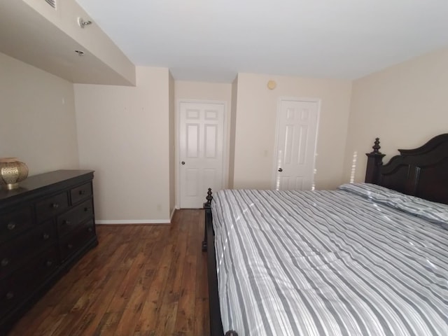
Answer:
<svg viewBox="0 0 448 336"><path fill-rule="evenodd" d="M98 244L92 179L58 170L0 190L0 335Z"/></svg>

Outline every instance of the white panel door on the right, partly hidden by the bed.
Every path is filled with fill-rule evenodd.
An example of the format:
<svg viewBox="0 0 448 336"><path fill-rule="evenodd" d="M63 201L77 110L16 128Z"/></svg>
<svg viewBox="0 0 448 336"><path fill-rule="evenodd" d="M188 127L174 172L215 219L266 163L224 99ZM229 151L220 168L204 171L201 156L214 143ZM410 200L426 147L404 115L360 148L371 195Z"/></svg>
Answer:
<svg viewBox="0 0 448 336"><path fill-rule="evenodd" d="M275 188L311 190L314 186L319 103L281 100L277 113Z"/></svg>

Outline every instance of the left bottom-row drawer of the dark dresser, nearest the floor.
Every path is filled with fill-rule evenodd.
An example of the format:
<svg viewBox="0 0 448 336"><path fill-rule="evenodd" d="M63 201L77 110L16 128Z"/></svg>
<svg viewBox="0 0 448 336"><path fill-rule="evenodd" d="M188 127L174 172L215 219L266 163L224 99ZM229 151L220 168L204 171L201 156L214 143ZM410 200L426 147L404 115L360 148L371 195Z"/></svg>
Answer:
<svg viewBox="0 0 448 336"><path fill-rule="evenodd" d="M38 288L45 276L55 272L58 264L58 251L56 246L52 246L20 270L0 281L0 311L13 309L25 294L29 295Z"/></svg>

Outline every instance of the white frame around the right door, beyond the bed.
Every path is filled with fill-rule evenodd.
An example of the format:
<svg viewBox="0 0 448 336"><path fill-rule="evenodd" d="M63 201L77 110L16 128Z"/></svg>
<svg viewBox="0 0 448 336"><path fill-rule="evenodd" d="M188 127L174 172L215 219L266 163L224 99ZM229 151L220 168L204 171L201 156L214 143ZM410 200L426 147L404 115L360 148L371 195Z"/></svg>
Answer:
<svg viewBox="0 0 448 336"><path fill-rule="evenodd" d="M278 151L279 151L279 125L280 125L280 109L281 109L281 102L288 101L288 102L311 102L311 103L317 103L317 127L316 127L316 148L314 150L314 160L313 160L313 176L312 176L312 187L311 190L314 190L314 175L315 175L315 169L316 169L316 156L317 153L317 144L318 144L318 135L319 135L319 125L321 122L321 99L319 98L308 98L308 97L279 97L277 99L277 112L276 112L276 122L275 122L275 139L274 139L274 155L272 155L272 189L275 190L276 188L276 172L277 172L277 166L278 166Z"/></svg>

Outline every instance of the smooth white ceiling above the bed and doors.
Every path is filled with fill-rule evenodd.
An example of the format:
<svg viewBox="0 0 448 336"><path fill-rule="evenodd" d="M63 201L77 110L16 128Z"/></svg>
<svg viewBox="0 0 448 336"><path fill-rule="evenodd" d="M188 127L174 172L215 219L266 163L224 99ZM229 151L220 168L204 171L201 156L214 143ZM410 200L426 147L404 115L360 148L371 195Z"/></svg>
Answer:
<svg viewBox="0 0 448 336"><path fill-rule="evenodd" d="M447 0L76 0L136 64L360 78L448 45Z"/></svg>

